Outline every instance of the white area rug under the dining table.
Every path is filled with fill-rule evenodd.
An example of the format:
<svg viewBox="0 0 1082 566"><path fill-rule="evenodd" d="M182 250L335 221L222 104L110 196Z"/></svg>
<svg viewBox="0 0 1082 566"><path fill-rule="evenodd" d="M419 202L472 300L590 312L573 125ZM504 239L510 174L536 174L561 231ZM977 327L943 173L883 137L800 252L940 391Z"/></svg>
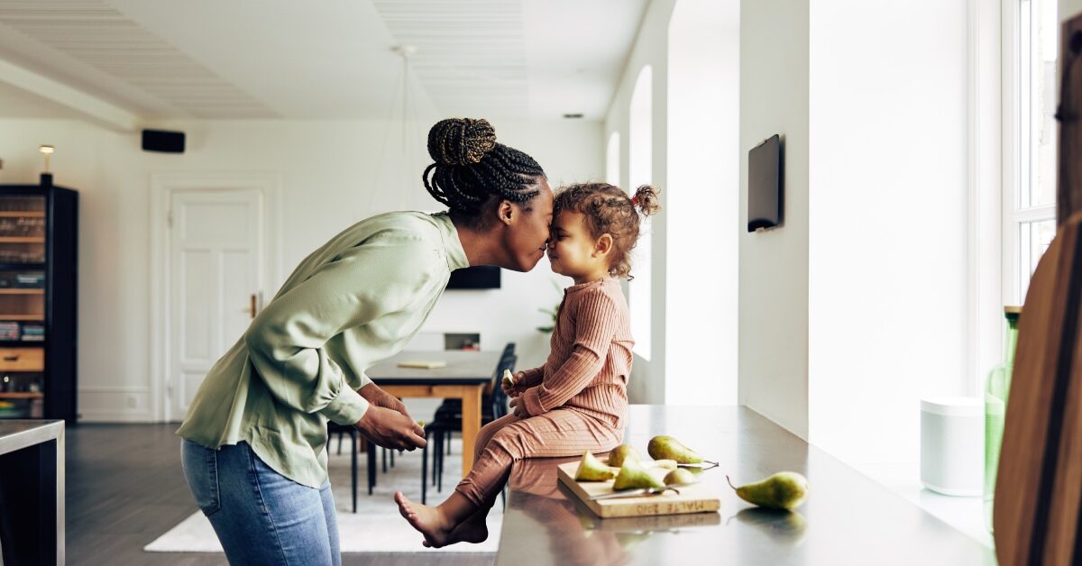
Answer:
<svg viewBox="0 0 1082 566"><path fill-rule="evenodd" d="M393 496L403 491L414 501L421 500L421 452L395 455L395 466L377 468L375 488L368 495L366 481L366 455L357 455L357 513L352 512L349 488L349 438L342 444L342 455L335 453L338 439L331 440L330 472L334 503L338 509L339 538L342 552L496 552L500 541L500 524L503 521L503 505L498 500L488 516L488 540L480 544L452 544L443 549L426 549L421 545L421 535L410 527L398 514ZM444 463L444 491L428 487L428 504L436 504L454 489L462 471L462 444L452 440L452 453ZM378 452L379 453L379 452ZM428 474L432 477L432 453L428 453ZM194 505L193 505L194 506ZM222 545L202 513L196 511L181 524L169 529L157 540L147 544L147 552L222 552Z"/></svg>

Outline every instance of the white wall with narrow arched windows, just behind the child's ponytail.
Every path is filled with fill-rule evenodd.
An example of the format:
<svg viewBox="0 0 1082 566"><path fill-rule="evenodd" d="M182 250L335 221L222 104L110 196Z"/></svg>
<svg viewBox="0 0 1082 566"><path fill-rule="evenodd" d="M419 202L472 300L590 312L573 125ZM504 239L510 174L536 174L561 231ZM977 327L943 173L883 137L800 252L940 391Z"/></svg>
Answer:
<svg viewBox="0 0 1082 566"><path fill-rule="evenodd" d="M665 367L665 284L667 272L664 261L664 250L667 248L665 234L668 220L664 207L667 206L668 192L668 115L669 89L668 89L668 49L669 49L669 18L672 15L675 0L655 0L646 10L643 23L639 26L635 44L628 56L623 75L617 87L612 103L609 105L608 115L605 118L606 136L610 132L620 132L620 179L621 187L631 179L630 154L629 154L629 113L631 107L631 95L638 79L639 70L646 65L651 67L654 81L654 155L651 159L651 172L654 184L661 188L662 211L650 221L652 223L652 251L654 268L651 269L652 285L652 308L651 308L651 340L650 359L645 360L635 356L635 364L631 371L631 381L628 386L628 395L631 403L654 403L665 402L664 367ZM634 266L632 266L634 269ZM635 285L634 282L628 285ZM624 293L628 293L628 285L624 286Z"/></svg>

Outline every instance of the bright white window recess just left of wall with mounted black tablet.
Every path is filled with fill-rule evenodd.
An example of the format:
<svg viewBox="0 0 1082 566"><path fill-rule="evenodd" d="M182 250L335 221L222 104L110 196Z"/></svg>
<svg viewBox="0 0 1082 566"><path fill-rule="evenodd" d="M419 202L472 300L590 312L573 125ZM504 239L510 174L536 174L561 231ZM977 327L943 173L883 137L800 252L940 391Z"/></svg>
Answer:
<svg viewBox="0 0 1082 566"><path fill-rule="evenodd" d="M669 24L665 403L736 405L740 2L678 0Z"/></svg>

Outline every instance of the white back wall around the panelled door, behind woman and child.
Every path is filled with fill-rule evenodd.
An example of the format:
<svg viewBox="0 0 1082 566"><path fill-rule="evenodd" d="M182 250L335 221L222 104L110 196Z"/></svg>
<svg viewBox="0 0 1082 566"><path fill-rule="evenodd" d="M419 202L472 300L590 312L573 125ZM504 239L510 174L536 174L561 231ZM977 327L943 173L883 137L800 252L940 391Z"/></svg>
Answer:
<svg viewBox="0 0 1082 566"><path fill-rule="evenodd" d="M80 121L0 121L0 182L37 182L37 147L52 144L55 183L80 190L79 410L87 421L155 418L150 380L161 376L150 370L148 360L151 173L280 174L282 278L312 249L357 220L396 209L438 210L420 181L428 124L414 133L418 145L409 154L386 143L390 124L383 121L160 126L188 133L184 155L144 153L136 134ZM494 126L501 142L526 150L545 168L554 187L604 174L598 122ZM519 366L541 364L547 335L533 328L545 323L538 308L558 300L552 279L562 278L541 263L530 274L505 274L500 291L449 292L425 330L479 330L486 350L515 341ZM479 312L486 316L478 317Z"/></svg>

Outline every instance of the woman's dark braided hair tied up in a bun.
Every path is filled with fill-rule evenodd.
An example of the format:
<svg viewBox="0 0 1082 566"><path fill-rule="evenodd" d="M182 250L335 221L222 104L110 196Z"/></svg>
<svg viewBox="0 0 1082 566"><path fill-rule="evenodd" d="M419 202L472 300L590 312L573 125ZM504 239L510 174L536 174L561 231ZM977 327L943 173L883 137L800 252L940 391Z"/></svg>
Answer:
<svg viewBox="0 0 1082 566"><path fill-rule="evenodd" d="M424 187L452 214L479 220L493 198L526 202L541 192L541 166L497 143L488 120L440 120L428 130L428 155L435 162L424 170Z"/></svg>

